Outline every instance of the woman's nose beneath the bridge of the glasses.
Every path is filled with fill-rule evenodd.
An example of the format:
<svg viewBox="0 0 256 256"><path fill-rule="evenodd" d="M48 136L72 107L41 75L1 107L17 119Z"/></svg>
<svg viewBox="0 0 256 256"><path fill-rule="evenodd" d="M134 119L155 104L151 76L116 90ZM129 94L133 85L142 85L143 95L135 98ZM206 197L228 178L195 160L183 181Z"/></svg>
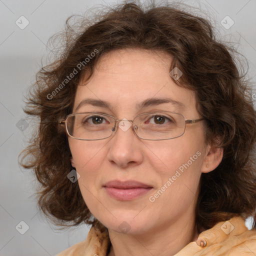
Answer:
<svg viewBox="0 0 256 256"><path fill-rule="evenodd" d="M123 118L116 122L115 134L111 137L107 158L121 168L140 164L143 159L142 142L132 129L132 121Z"/></svg>

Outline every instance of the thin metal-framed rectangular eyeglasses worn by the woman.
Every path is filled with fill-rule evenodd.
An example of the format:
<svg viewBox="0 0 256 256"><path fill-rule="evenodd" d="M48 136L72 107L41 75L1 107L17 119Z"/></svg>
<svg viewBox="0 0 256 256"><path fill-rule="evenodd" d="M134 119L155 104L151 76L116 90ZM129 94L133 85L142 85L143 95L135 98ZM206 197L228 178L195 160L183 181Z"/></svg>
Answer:
<svg viewBox="0 0 256 256"><path fill-rule="evenodd" d="M141 139L162 140L183 135L186 124L203 119L185 120L182 114L169 111L142 113L133 120L115 119L111 115L98 112L83 112L69 114L65 120L60 120L59 124L65 124L70 137L81 140L108 138L117 130L118 122L118 127L123 131L132 126L135 134Z"/></svg>

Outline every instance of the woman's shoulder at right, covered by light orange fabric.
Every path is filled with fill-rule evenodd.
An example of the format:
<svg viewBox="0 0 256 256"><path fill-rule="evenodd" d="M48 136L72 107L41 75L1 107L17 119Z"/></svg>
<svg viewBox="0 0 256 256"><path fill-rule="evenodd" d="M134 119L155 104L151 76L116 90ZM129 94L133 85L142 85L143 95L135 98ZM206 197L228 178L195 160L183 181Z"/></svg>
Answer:
<svg viewBox="0 0 256 256"><path fill-rule="evenodd" d="M188 243L175 254L183 255L256 255L256 229L248 230L242 217L218 222L212 228L201 232L196 242Z"/></svg>

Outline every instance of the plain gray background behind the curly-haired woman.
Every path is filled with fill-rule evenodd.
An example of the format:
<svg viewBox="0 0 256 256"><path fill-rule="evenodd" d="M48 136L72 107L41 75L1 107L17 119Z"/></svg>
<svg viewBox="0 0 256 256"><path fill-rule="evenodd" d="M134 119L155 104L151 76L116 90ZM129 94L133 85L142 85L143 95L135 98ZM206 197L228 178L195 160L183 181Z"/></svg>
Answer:
<svg viewBox="0 0 256 256"><path fill-rule="evenodd" d="M235 43L247 58L248 77L255 82L256 0L183 2L210 13L220 34ZM31 120L22 121L26 118L22 100L34 81L41 58L45 59L48 38L63 29L65 19L71 14L82 14L95 4L113 3L116 1L0 0L0 255L55 255L87 235L88 227L84 225L55 230L38 213L34 177L17 163L17 155L33 125ZM24 29L15 24L21 15L29 21ZM229 29L221 24L226 15L234 21ZM222 22L231 24L226 18ZM25 231L26 226L20 221L29 227L24 234L17 231Z"/></svg>

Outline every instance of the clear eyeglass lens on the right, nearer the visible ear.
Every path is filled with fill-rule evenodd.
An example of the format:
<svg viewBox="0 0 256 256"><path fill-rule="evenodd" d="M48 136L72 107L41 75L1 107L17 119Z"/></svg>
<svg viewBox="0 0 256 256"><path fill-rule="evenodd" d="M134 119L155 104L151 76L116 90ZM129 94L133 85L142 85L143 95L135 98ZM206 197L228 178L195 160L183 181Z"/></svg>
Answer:
<svg viewBox="0 0 256 256"><path fill-rule="evenodd" d="M179 137L185 130L183 115L172 112L154 112L134 118L136 134L143 139L160 140Z"/></svg>

